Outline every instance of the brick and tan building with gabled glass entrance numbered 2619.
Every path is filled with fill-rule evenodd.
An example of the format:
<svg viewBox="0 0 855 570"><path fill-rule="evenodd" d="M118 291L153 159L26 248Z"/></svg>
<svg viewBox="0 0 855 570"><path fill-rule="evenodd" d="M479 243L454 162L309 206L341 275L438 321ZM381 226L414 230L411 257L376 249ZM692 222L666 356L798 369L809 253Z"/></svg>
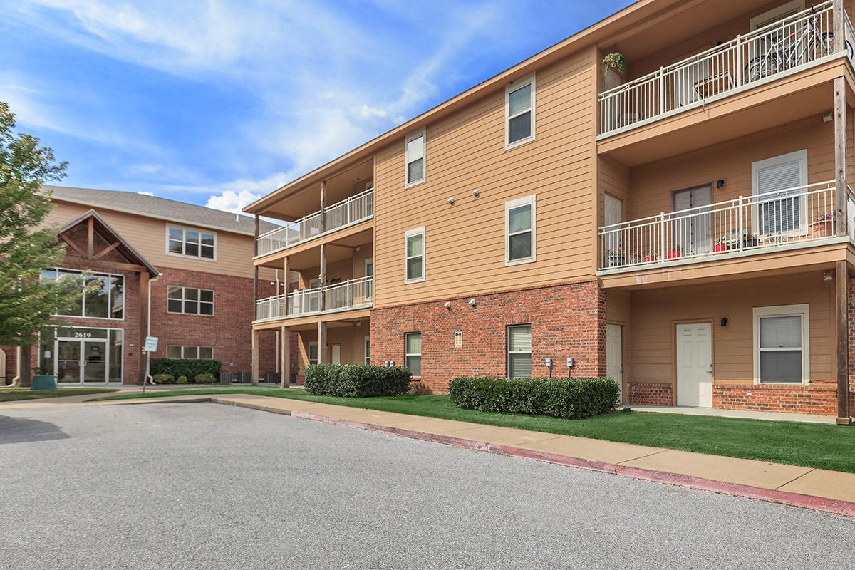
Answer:
<svg viewBox="0 0 855 570"><path fill-rule="evenodd" d="M262 271L254 279L254 220L136 192L46 189L55 208L45 223L59 228L66 252L43 279L85 271L102 285L39 336L33 370L56 374L61 385L141 384L151 335L159 338L152 358L214 358L223 372L250 380L249 299L254 283L272 295L281 278ZM279 373L276 333L258 342L262 375ZM21 350L0 353L8 384L21 373Z"/></svg>

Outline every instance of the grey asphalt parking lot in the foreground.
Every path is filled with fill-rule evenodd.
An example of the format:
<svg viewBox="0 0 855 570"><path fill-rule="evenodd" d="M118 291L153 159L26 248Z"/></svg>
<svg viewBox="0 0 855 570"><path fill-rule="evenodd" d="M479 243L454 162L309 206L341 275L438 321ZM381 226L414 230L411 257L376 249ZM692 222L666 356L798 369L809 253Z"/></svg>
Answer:
<svg viewBox="0 0 855 570"><path fill-rule="evenodd" d="M0 409L0 568L810 568L855 520L215 404Z"/></svg>

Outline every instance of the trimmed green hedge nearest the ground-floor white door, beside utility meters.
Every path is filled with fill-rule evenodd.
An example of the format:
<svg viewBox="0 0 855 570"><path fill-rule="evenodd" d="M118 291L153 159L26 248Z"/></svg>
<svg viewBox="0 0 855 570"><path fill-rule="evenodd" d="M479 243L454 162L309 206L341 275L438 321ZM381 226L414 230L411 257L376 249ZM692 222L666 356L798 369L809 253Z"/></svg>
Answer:
<svg viewBox="0 0 855 570"><path fill-rule="evenodd" d="M612 411L620 389L608 378L456 378L448 395L458 408L587 418Z"/></svg>

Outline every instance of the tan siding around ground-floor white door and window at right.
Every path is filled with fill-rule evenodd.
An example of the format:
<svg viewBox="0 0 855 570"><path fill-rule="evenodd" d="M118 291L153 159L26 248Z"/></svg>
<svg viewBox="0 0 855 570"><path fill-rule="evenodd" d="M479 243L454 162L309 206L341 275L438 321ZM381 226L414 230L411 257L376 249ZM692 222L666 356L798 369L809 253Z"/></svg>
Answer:
<svg viewBox="0 0 855 570"><path fill-rule="evenodd" d="M628 380L673 382L675 323L708 321L716 383L751 383L752 309L808 303L811 381L834 381L833 299L834 282L823 281L822 272L632 291ZM722 317L728 317L728 326L721 326Z"/></svg>

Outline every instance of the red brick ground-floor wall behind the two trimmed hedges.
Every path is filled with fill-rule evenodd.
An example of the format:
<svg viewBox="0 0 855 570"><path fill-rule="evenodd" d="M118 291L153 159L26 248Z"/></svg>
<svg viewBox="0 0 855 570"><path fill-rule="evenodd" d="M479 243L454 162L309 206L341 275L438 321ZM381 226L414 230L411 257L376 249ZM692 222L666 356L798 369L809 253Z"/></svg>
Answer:
<svg viewBox="0 0 855 570"><path fill-rule="evenodd" d="M565 377L568 356L573 376L605 374L605 296L596 281L471 297L442 299L371 311L371 360L404 364L404 333L422 333L422 379L418 389L445 392L457 376L505 376L509 325L532 326L532 375ZM451 309L445 309L445 302ZM463 346L454 347L454 332Z"/></svg>

